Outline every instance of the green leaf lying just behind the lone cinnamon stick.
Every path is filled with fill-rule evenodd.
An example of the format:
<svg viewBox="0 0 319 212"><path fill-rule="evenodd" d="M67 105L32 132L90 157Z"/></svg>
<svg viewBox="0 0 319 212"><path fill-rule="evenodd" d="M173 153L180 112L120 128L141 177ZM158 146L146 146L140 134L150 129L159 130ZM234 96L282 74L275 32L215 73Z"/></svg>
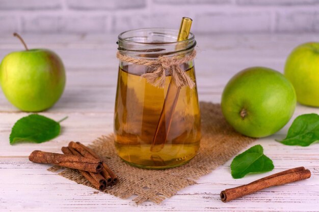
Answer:
<svg viewBox="0 0 319 212"><path fill-rule="evenodd" d="M271 171L274 164L270 158L263 155L263 148L258 144L237 155L231 162L230 169L231 176L238 179L248 173Z"/></svg>

